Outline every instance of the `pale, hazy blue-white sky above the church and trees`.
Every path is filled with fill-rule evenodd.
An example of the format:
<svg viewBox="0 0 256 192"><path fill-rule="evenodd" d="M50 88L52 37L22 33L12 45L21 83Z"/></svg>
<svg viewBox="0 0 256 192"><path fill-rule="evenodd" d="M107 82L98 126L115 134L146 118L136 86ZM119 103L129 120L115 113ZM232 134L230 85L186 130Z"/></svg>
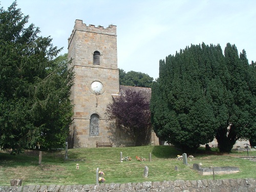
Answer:
<svg viewBox="0 0 256 192"><path fill-rule="evenodd" d="M6 10L13 1L0 0ZM84 24L117 26L118 68L157 78L159 60L191 44L235 44L256 61L254 0L17 0L29 24L68 53L75 19Z"/></svg>

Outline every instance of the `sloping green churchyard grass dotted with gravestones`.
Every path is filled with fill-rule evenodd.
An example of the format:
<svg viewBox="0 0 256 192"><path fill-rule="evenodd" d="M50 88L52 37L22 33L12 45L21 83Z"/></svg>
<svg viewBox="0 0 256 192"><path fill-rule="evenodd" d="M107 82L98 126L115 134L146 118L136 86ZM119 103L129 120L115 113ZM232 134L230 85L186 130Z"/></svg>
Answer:
<svg viewBox="0 0 256 192"><path fill-rule="evenodd" d="M0 151L0 185L10 185L11 179L23 179L23 185L95 184L97 167L104 172L106 183L212 179L212 176L202 176L193 170L193 163L202 163L203 167L236 166L240 169L236 174L215 175L215 179L255 178L256 162L239 158L246 157L247 152L221 154L214 150L207 153L201 149L192 154L195 158L192 161L188 158L188 165L177 160L177 155L182 153L172 146L74 148L68 150L66 162L65 150L42 152L41 165L38 164L39 151L26 151L16 156ZM120 162L120 152L122 157L132 160ZM149 153L152 154L151 162L148 161ZM136 156L146 161L138 161ZM249 156L256 156L256 151L249 151ZM148 167L147 178L143 177L145 166Z"/></svg>

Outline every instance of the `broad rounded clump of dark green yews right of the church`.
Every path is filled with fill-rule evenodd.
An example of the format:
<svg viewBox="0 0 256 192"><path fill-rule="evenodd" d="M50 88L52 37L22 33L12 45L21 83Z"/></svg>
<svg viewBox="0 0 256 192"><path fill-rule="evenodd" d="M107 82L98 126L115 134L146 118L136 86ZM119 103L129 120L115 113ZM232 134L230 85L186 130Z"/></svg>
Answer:
<svg viewBox="0 0 256 192"><path fill-rule="evenodd" d="M253 91L254 90L254 91ZM193 151L218 140L220 151L255 133L255 69L236 46L191 45L160 60L152 87L157 136Z"/></svg>

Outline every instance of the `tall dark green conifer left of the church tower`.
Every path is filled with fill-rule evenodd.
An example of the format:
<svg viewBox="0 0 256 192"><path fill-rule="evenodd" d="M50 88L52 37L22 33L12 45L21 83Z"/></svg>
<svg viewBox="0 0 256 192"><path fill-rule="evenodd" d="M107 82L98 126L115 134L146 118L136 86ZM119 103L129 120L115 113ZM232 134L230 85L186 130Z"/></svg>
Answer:
<svg viewBox="0 0 256 192"><path fill-rule="evenodd" d="M0 147L13 154L65 144L73 83L68 62L54 59L61 49L33 24L25 28L29 16L16 6L0 8Z"/></svg>

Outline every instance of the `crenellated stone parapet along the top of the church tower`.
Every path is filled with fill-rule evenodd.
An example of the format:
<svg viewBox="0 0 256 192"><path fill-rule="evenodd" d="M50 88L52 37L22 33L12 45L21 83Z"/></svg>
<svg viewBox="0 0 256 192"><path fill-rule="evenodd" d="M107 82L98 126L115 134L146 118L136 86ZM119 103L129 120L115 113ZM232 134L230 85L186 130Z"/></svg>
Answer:
<svg viewBox="0 0 256 192"><path fill-rule="evenodd" d="M69 40L69 45L70 45L70 41L71 41L71 39L72 39L76 30L117 36L115 25L109 25L109 27L107 27L107 28L104 28L102 26L95 27L95 25L87 26L86 24L82 23L82 20L76 19L74 29L73 29L72 34L70 35L70 37L68 39Z"/></svg>

